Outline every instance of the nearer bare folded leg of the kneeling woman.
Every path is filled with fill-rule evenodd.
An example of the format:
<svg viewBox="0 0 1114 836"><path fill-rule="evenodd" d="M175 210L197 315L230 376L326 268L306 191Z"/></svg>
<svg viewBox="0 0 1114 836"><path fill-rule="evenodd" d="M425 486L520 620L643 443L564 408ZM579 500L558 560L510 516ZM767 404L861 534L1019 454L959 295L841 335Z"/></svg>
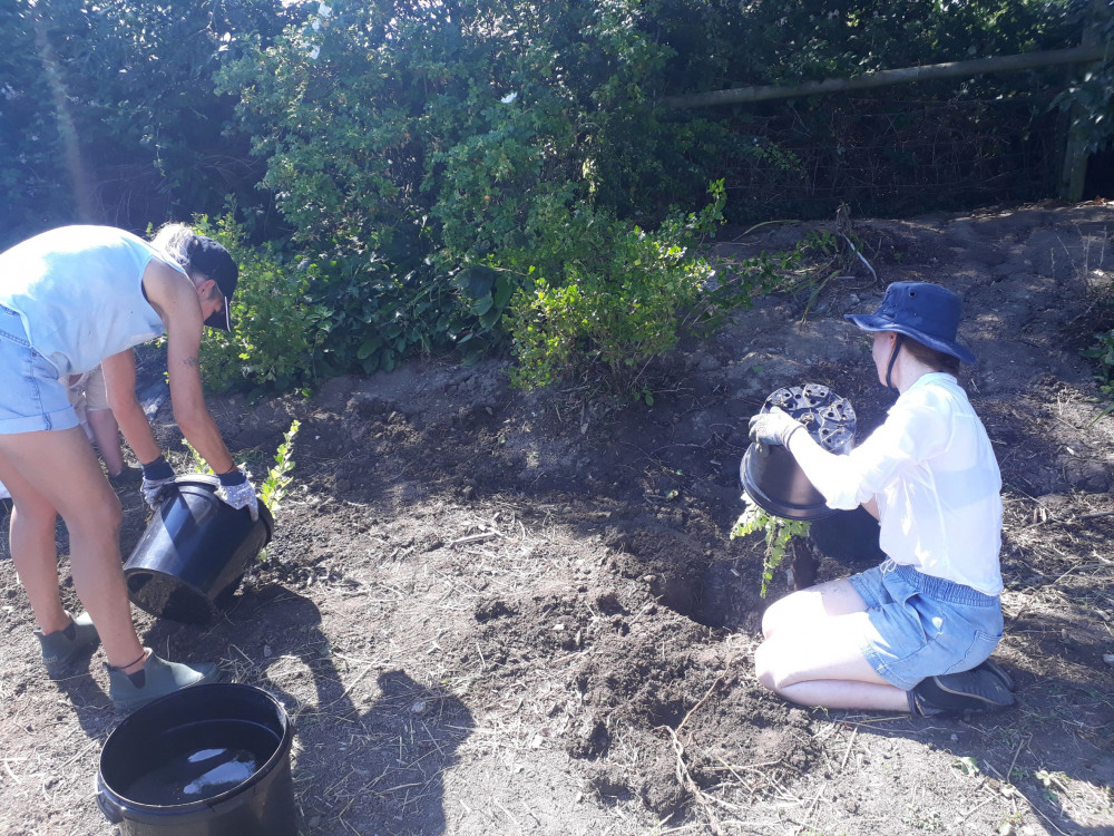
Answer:
<svg viewBox="0 0 1114 836"><path fill-rule="evenodd" d="M775 633L754 653L759 681L802 706L908 710L906 692L878 675L859 649L868 619L852 612Z"/></svg>

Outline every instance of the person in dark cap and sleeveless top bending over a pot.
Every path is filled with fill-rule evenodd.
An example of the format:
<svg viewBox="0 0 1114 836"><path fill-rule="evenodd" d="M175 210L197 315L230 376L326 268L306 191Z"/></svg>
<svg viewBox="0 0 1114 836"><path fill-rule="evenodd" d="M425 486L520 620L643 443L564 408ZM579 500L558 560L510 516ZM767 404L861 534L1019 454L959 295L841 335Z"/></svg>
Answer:
<svg viewBox="0 0 1114 836"><path fill-rule="evenodd" d="M123 230L65 226L0 253L0 480L11 493L11 553L27 590L48 672L104 644L109 696L129 711L218 678L215 664L166 662L131 621L120 557L120 502L67 398L70 376L98 363L108 401L144 470L153 506L174 482L135 396L133 347L165 331L174 417L219 475L223 498L258 513L202 395L202 327L231 330L238 269L211 239L175 227L156 246ZM55 524L70 538L74 586L88 611L71 618L58 589Z"/></svg>

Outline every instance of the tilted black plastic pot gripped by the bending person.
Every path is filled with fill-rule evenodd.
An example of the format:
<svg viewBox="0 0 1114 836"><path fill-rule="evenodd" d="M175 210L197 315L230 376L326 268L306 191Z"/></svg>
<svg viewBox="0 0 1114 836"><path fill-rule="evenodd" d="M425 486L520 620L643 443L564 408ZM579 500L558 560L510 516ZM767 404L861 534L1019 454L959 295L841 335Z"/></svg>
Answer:
<svg viewBox="0 0 1114 836"><path fill-rule="evenodd" d="M247 508L216 496L219 487L215 476L179 476L159 505L124 564L128 596L140 610L207 624L271 542L274 519L262 503L253 523Z"/></svg>

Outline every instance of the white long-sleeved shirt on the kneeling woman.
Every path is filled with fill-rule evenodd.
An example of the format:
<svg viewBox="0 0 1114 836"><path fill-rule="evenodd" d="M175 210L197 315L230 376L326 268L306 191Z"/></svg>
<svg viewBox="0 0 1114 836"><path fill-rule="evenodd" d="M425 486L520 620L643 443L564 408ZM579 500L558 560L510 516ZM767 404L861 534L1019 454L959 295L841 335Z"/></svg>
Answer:
<svg viewBox="0 0 1114 836"><path fill-rule="evenodd" d="M809 444L794 455L829 507L877 499L879 545L896 563L987 595L1001 592L1001 474L950 375L920 377L851 453Z"/></svg>

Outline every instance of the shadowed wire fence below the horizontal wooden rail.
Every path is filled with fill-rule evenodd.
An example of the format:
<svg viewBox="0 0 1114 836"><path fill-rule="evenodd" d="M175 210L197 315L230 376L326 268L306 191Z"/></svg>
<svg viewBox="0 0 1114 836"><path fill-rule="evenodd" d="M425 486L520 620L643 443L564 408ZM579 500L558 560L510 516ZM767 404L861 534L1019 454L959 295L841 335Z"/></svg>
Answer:
<svg viewBox="0 0 1114 836"><path fill-rule="evenodd" d="M1051 197L1061 117L1033 99L831 96L737 117L753 147L726 172L736 217L907 215Z"/></svg>

